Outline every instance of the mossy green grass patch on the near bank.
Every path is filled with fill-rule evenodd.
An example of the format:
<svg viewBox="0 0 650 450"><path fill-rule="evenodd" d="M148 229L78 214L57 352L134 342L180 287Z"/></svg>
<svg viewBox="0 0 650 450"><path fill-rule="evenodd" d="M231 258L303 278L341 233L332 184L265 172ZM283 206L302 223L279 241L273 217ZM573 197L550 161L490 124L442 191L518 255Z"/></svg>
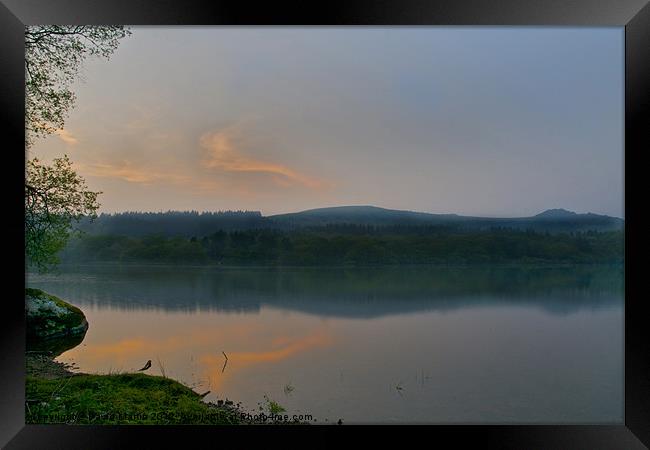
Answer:
<svg viewBox="0 0 650 450"><path fill-rule="evenodd" d="M205 403L190 388L145 374L74 374L26 379L26 423L196 424L240 423L236 408ZM280 407L281 408L281 407Z"/></svg>

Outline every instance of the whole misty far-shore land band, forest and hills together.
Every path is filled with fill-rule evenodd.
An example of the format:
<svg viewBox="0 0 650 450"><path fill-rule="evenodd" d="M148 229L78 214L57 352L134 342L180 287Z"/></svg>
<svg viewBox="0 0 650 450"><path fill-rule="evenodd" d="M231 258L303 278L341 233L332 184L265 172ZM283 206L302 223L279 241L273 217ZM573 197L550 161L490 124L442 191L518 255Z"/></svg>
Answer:
<svg viewBox="0 0 650 450"><path fill-rule="evenodd" d="M315 211L271 217L246 211L102 214L81 222L61 260L326 266L623 259L621 221L607 216L565 211L481 219L371 207Z"/></svg>

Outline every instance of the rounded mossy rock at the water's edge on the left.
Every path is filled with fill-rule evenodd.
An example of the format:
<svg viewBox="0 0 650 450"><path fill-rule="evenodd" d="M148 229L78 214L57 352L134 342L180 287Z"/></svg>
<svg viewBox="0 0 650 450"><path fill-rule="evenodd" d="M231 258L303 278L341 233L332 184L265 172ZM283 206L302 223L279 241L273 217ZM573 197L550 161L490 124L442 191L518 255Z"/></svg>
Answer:
<svg viewBox="0 0 650 450"><path fill-rule="evenodd" d="M59 339L86 334L88 321L74 305L41 291L25 289L27 339Z"/></svg>

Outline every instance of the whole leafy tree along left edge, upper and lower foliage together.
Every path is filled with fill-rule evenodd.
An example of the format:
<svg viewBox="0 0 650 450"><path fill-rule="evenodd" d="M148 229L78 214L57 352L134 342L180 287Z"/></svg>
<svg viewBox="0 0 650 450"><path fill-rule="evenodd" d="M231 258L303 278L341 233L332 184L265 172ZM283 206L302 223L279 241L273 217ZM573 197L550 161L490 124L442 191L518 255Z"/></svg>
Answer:
<svg viewBox="0 0 650 450"><path fill-rule="evenodd" d="M38 137L63 129L75 95L70 86L88 56L109 58L123 26L33 26L25 30L25 150ZM94 218L101 192L88 190L67 155L51 166L37 158L25 171L25 254L28 264L47 270L58 262L73 222Z"/></svg>

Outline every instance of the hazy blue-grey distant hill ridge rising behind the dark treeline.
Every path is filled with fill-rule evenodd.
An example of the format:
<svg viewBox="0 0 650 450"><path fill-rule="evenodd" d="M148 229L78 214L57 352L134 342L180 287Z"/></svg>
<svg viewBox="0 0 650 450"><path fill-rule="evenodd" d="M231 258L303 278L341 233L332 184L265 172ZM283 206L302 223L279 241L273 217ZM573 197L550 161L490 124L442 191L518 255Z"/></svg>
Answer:
<svg viewBox="0 0 650 450"><path fill-rule="evenodd" d="M300 229L327 226L442 227L448 230L477 231L493 228L537 232L622 230L625 221L593 213L575 213L561 208L535 216L498 218L458 214L432 214L377 206L335 206L286 214L262 216L259 211L218 213L175 212L102 214L95 221L83 221L79 228L90 234L145 236L205 236L219 230Z"/></svg>

